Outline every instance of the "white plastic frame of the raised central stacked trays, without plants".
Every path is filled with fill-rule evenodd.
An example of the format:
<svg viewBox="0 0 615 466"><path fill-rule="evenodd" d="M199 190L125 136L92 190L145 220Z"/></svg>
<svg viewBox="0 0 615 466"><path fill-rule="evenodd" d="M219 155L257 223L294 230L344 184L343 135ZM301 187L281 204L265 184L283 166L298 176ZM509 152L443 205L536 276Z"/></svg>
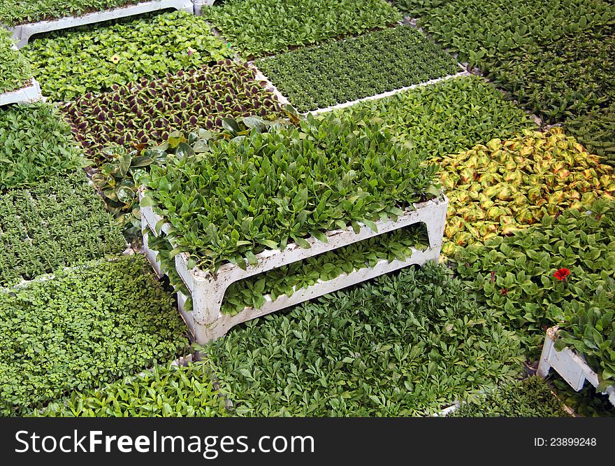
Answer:
<svg viewBox="0 0 615 466"><path fill-rule="evenodd" d="M144 191L144 188L140 189L141 198L143 198ZM236 264L227 263L223 264L216 274L212 274L210 271L203 271L196 267L194 269L189 269L187 267L189 256L186 253L175 255L175 269L182 278L182 281L184 281L192 299L192 310L187 311L185 303L188 297L181 293L178 294L178 307L180 313L182 313L182 317L189 327L194 339L199 344L205 344L208 341L223 337L231 327L246 322L247 320L252 320L268 313L294 306L295 304L305 302L309 299L326 295L335 290L361 283L370 278L375 278L412 264L422 265L429 260L437 262L440 257L440 249L442 248L442 235L444 233L444 224L446 223L448 202L448 198L442 194L430 201L414 204L414 209L407 209L407 211L396 221L380 220L376 222L377 232L362 225L359 233L354 233L352 228L326 232L328 238L327 243L310 237L307 239L307 242L310 243L310 248L301 248L296 245L296 243L290 243L282 251L265 250L256 255L259 259L259 263L255 266L248 266L246 270L241 269ZM147 246L147 235L149 232L156 234L156 225L160 225L163 220L161 216L154 213L152 207L147 206L141 208L145 255L159 276L163 276L166 271L161 268L161 264L157 260L157 251ZM234 315L222 313L221 311L224 293L231 283L272 269L277 269L278 267L306 259L307 257L313 257L330 250L342 248L343 246L356 243L357 241L363 241L372 236L377 236L377 234L392 232L393 230L408 227L416 223L426 224L429 247L426 248L426 250L413 250L412 255L407 257L406 260L393 260L392 262L381 260L375 264L375 267L355 270L349 274L342 274L332 280L319 281L308 288L296 290L291 297L282 295L272 300L267 296L266 303L259 309L248 307ZM161 230L158 231L167 233L168 229L169 225L165 223L161 227Z"/></svg>

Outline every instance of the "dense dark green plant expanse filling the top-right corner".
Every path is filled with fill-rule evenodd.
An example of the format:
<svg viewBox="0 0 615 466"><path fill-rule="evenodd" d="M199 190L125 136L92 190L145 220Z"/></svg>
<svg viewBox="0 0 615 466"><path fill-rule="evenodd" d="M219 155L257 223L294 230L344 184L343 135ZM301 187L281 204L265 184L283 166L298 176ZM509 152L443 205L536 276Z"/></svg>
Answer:
<svg viewBox="0 0 615 466"><path fill-rule="evenodd" d="M593 0L400 0L436 41L548 123L613 160L615 5ZM613 163L613 162L611 162Z"/></svg>

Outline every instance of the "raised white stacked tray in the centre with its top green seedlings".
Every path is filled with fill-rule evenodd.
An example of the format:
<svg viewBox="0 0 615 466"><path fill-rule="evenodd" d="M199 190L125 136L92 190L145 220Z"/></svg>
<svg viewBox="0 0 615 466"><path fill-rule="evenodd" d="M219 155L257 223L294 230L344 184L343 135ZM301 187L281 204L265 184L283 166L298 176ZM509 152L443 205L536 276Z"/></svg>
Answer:
<svg viewBox="0 0 615 466"><path fill-rule="evenodd" d="M147 187L141 192L143 230L166 234L173 246L168 257L191 297L191 311L184 314L198 341L439 257L448 201L434 183L433 165L394 144L368 118L340 120L328 114L308 116L297 125L253 129L202 148L206 157L194 151L169 158L165 167L153 167L142 178ZM207 173L217 176L201 186ZM319 280L290 297L261 302L258 309L222 312L226 288L236 281L416 223L426 224L428 247L403 260L386 258ZM149 248L147 241L145 234ZM157 254L150 250L148 257Z"/></svg>

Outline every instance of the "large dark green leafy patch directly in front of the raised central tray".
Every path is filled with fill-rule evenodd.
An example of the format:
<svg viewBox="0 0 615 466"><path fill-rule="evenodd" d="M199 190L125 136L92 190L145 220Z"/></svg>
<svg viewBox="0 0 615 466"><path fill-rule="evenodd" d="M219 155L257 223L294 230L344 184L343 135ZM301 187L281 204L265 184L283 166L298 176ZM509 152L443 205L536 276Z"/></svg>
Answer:
<svg viewBox="0 0 615 466"><path fill-rule="evenodd" d="M252 321L205 352L240 416L413 416L512 380L519 341L501 316L428 264Z"/></svg>

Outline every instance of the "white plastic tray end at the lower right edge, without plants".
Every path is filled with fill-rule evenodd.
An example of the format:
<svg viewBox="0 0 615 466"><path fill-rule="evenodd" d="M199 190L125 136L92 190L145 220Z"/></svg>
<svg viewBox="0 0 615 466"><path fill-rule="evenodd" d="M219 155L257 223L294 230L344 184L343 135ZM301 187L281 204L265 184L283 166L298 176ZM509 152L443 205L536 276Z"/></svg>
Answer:
<svg viewBox="0 0 615 466"><path fill-rule="evenodd" d="M556 350L557 332L557 325L547 330L540 362L538 362L537 374L541 377L546 377L549 374L549 369L552 367L577 392L583 388L585 381L588 381L597 388L600 383L598 374L587 365L587 362L581 355L567 347L562 351ZM610 386L602 393L608 395L609 401L615 406L615 388Z"/></svg>

